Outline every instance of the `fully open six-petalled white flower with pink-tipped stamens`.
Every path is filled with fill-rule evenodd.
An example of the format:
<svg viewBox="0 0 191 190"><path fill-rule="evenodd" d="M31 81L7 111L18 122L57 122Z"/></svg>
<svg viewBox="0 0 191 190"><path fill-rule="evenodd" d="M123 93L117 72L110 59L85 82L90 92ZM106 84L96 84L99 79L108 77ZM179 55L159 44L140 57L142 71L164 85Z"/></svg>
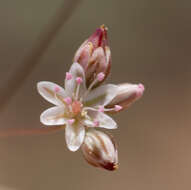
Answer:
<svg viewBox="0 0 191 190"><path fill-rule="evenodd" d="M66 73L65 89L47 81L37 84L41 96L55 105L41 114L40 121L49 126L65 125L66 144L71 151L82 145L86 127L117 128L116 122L104 112L121 109L119 105L105 108L116 96L118 87L107 84L93 88L103 79L104 74L99 73L87 89L82 66L73 63Z"/></svg>

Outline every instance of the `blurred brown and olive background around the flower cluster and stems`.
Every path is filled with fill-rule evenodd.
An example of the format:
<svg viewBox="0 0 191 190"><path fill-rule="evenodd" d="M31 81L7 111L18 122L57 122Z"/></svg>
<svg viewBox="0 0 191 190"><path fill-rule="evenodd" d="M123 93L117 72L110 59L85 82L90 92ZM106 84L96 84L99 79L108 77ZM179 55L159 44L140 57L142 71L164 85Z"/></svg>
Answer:
<svg viewBox="0 0 191 190"><path fill-rule="evenodd" d="M22 64L67 0L1 0L0 88ZM1 130L38 129L51 105L36 91L40 80L64 84L79 45L109 28L112 83L142 82L145 93L115 115L120 166L108 172L70 152L64 132L0 138L2 190L190 190L191 2L83 0L1 113ZM2 91L1 91L2 92Z"/></svg>

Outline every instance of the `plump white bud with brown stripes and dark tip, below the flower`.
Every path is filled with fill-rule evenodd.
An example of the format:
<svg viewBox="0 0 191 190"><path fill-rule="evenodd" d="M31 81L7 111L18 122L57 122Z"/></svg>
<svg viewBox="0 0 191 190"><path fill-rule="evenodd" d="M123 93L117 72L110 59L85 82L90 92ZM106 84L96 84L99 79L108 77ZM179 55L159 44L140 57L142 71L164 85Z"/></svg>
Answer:
<svg viewBox="0 0 191 190"><path fill-rule="evenodd" d="M116 144L112 137L101 131L90 129L86 132L82 152L86 161L95 167L111 171L118 168Z"/></svg>

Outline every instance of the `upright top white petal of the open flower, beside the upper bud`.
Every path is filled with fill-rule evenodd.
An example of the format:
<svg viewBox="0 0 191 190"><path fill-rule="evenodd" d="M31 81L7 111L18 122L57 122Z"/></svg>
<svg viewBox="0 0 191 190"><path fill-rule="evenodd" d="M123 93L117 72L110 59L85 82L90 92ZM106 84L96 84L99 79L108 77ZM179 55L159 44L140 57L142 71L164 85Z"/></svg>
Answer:
<svg viewBox="0 0 191 190"><path fill-rule="evenodd" d="M73 95L73 93L75 94L77 87L76 78L81 77L83 80L79 91L79 96L81 97L82 94L86 91L86 79L82 66L78 63L73 63L69 73L72 74L72 79L65 80L65 90L70 97Z"/></svg>

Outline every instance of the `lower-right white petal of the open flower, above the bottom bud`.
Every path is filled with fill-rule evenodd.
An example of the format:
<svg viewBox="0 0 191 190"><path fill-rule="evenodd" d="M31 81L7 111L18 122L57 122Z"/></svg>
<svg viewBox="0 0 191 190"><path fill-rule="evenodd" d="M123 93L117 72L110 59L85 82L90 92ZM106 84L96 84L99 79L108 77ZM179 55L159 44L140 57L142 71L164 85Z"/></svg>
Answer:
<svg viewBox="0 0 191 190"><path fill-rule="evenodd" d="M117 123L105 113L88 110L88 116L91 119L84 120L84 124L87 127L94 127L94 121L98 121L99 122L98 127L105 128L105 129L117 128Z"/></svg>

